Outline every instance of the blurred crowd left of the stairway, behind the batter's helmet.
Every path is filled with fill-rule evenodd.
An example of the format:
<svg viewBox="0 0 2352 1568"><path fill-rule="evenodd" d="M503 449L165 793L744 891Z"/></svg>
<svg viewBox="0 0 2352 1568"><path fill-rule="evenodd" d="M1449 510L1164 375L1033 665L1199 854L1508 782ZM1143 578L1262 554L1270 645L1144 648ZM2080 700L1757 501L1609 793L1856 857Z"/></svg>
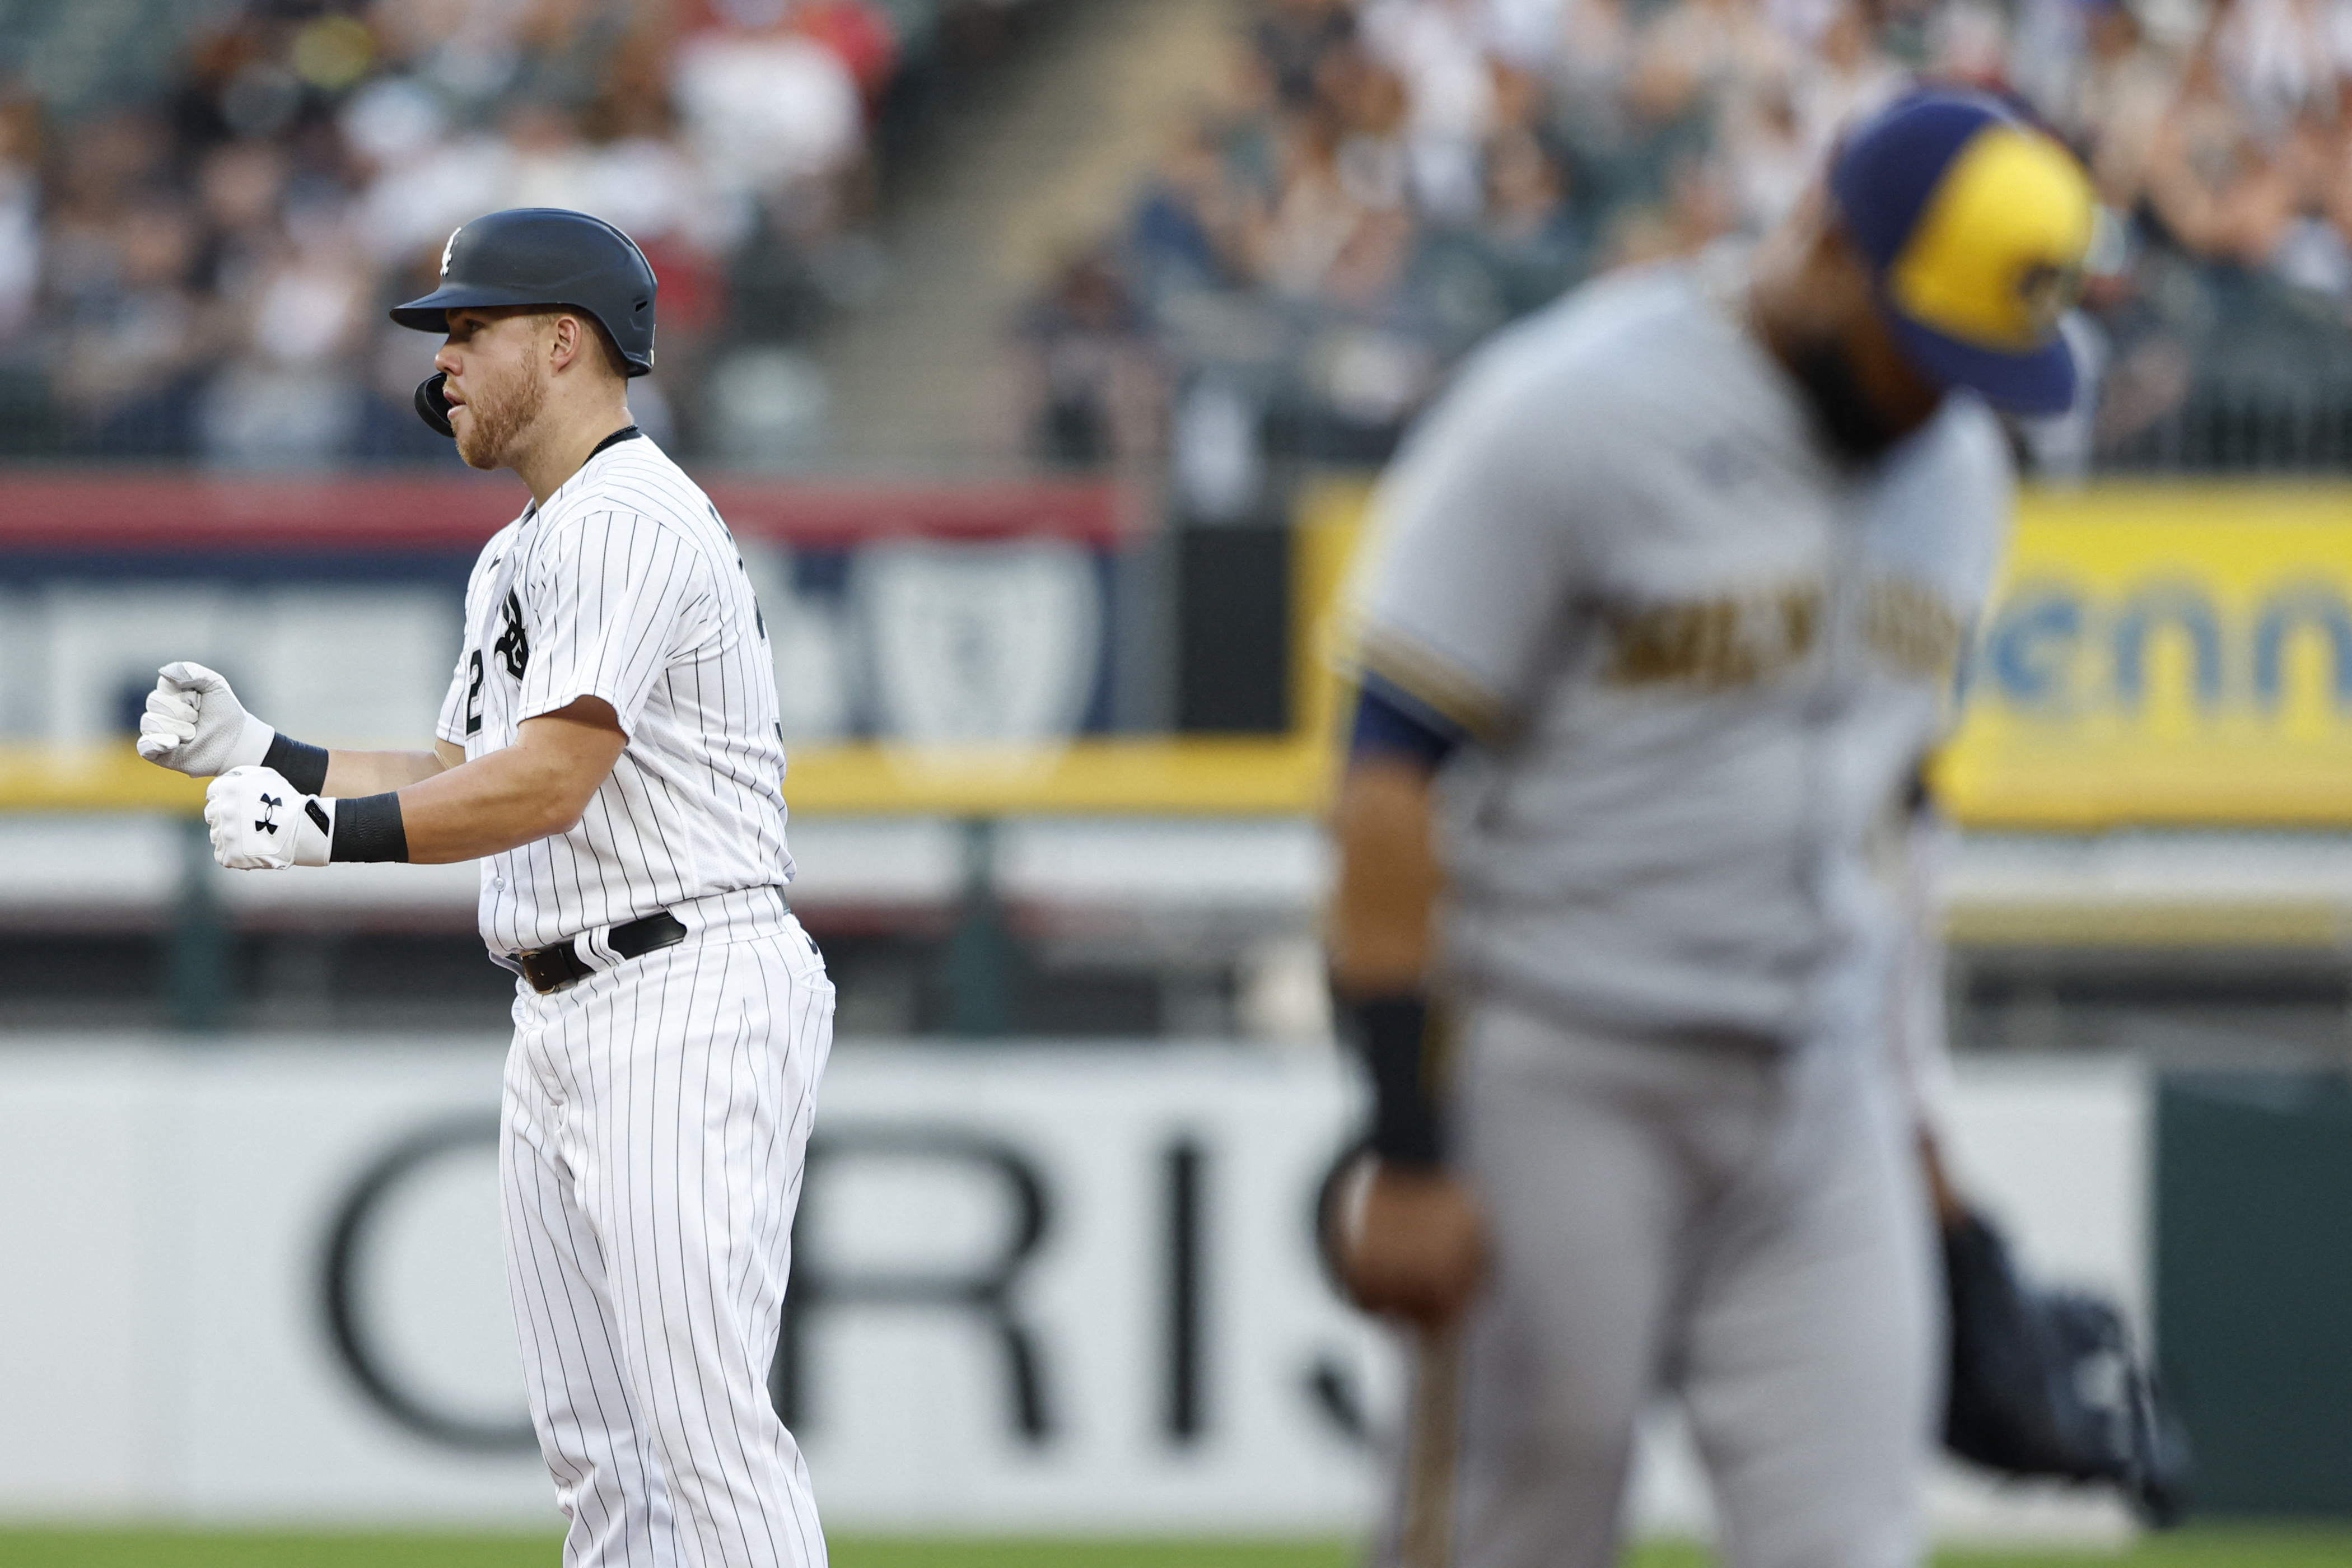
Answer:
<svg viewBox="0 0 2352 1568"><path fill-rule="evenodd" d="M249 0L146 92L0 75L0 451L447 454L409 411L435 343L383 308L456 223L536 205L644 244L661 376L633 407L708 447L715 348L797 341L870 273L873 129L955 9Z"/></svg>

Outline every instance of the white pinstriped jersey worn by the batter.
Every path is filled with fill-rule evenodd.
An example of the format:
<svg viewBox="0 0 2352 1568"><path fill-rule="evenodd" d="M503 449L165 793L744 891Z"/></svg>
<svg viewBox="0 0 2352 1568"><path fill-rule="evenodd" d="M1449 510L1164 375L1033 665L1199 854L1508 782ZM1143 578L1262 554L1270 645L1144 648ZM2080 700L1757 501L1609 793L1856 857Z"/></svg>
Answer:
<svg viewBox="0 0 2352 1568"><path fill-rule="evenodd" d="M628 745L579 825L482 860L494 957L793 879L767 625L717 508L642 435L482 548L440 738L470 762L583 696Z"/></svg>

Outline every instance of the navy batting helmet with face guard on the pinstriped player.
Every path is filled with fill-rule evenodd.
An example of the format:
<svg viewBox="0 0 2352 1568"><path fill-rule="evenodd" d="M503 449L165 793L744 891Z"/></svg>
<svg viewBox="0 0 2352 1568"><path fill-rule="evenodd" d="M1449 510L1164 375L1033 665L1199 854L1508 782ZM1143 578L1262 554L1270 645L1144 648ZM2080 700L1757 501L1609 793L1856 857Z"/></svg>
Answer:
<svg viewBox="0 0 2352 1568"><path fill-rule="evenodd" d="M393 320L419 331L447 331L463 306L546 306L586 310L612 334L630 376L654 369L654 268L637 242L604 219L562 207L510 207L466 223L442 247L440 287ZM433 374L416 388L416 414L449 430L449 404Z"/></svg>

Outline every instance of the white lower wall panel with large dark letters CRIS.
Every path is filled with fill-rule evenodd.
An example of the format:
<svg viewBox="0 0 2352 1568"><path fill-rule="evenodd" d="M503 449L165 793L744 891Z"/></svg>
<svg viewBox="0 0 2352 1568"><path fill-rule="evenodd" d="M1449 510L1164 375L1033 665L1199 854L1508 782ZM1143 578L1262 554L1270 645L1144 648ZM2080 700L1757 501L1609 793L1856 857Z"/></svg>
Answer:
<svg viewBox="0 0 2352 1568"><path fill-rule="evenodd" d="M0 1051L0 1516L550 1523L496 1091L489 1039ZM1399 1378L1310 1246L1350 1100L1329 1053L844 1044L783 1389L828 1521L1357 1530ZM1978 1192L2136 1312L2143 1133L2119 1065L1962 1084ZM1983 1486L1938 1507L1962 1535L2119 1528ZM1672 1443L1642 1512L1703 1516Z"/></svg>

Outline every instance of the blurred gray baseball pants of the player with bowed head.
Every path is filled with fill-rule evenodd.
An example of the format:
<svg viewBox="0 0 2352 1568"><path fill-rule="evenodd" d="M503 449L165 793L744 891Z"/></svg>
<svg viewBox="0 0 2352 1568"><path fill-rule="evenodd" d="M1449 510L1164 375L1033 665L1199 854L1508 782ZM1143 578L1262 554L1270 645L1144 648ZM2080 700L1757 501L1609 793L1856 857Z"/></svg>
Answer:
<svg viewBox="0 0 2352 1568"><path fill-rule="evenodd" d="M1635 1420L1677 1394L1726 1568L1915 1568L1940 1298L1884 1056L1465 1025L1496 1267L1423 1345L1381 1556L1606 1568Z"/></svg>

